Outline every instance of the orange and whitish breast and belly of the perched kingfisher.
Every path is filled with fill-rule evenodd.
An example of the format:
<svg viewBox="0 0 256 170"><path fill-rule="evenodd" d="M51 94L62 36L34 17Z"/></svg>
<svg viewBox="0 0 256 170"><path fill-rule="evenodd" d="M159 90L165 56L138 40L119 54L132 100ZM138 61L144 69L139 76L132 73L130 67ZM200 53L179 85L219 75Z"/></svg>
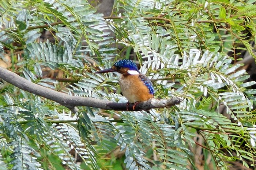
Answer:
<svg viewBox="0 0 256 170"><path fill-rule="evenodd" d="M143 102L154 97L153 94L150 94L147 86L140 80L139 75L121 75L119 85L123 96L130 103Z"/></svg>

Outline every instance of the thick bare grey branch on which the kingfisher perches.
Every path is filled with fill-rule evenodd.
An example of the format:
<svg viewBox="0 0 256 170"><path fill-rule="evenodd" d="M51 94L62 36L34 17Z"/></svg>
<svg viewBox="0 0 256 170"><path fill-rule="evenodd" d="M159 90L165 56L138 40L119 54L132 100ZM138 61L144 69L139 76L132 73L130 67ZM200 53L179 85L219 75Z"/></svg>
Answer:
<svg viewBox="0 0 256 170"><path fill-rule="evenodd" d="M32 83L29 80L26 80L25 78L22 78L14 72L11 72L3 67L0 67L0 78L22 90L42 96L49 100L53 100L54 102L69 108L72 112L77 111L75 106L96 107L104 110L126 110L126 103L115 103L108 100L71 96L57 92L52 89ZM180 102L181 100L176 97L172 97L168 100L158 100L153 98L145 102L138 103L136 105L135 111L150 110L151 108L163 108L179 104ZM129 110L133 111L132 104L129 105Z"/></svg>

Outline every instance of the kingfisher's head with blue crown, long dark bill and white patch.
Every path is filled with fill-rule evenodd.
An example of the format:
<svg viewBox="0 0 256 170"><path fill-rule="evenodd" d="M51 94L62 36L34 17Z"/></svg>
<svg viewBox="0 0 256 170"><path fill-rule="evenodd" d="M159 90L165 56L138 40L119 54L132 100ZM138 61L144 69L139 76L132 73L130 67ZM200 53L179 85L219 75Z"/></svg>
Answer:
<svg viewBox="0 0 256 170"><path fill-rule="evenodd" d="M119 60L111 68L107 68L105 70L97 71L94 73L105 73L105 72L119 72L123 75L136 75L139 74L138 67L132 60Z"/></svg>

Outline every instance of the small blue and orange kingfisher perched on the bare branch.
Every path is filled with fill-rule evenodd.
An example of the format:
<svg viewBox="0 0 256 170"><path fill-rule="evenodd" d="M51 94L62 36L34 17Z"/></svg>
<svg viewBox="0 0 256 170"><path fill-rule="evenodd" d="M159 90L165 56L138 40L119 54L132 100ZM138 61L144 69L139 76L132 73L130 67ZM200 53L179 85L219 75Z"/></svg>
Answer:
<svg viewBox="0 0 256 170"><path fill-rule="evenodd" d="M118 83L123 96L128 100L126 104L127 111L130 103L133 103L132 109L135 110L139 102L154 98L153 84L146 75L138 70L138 67L132 60L119 60L111 68L94 73L106 72L118 72L121 74Z"/></svg>

